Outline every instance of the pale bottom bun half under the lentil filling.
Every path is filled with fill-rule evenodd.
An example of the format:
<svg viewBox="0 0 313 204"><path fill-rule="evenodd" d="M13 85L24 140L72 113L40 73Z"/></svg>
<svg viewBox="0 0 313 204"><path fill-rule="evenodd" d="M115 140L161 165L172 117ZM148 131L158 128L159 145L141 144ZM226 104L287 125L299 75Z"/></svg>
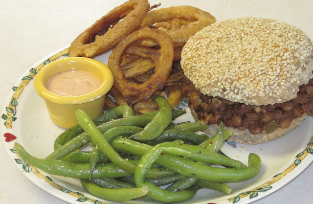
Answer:
<svg viewBox="0 0 313 204"><path fill-rule="evenodd" d="M193 109L190 109L190 110L195 120L199 121L197 117L197 113ZM306 117L307 117L307 114L304 113L301 117L298 117L292 120L288 128L277 128L276 130L274 130L273 132L269 134L263 131L262 133L253 135L249 133L248 129L238 130L236 128L226 127L226 129L233 131L233 136L229 137L228 141L239 142L243 144L259 144L259 143L271 141L289 133L291 130L293 130L298 125L300 125ZM220 129L220 125L212 124L212 125L209 125L207 129L203 130L203 132L210 134L210 135L215 135L219 131L219 129Z"/></svg>

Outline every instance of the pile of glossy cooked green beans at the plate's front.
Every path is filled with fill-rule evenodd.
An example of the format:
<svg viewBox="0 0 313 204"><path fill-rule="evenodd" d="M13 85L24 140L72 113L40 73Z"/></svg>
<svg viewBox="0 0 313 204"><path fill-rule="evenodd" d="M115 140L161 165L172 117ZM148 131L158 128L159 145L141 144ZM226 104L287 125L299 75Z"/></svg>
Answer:
<svg viewBox="0 0 313 204"><path fill-rule="evenodd" d="M54 152L45 159L31 156L19 143L15 149L29 164L80 179L90 194L115 202L182 202L202 188L230 194L226 182L246 181L258 174L261 159L256 154L249 155L246 166L218 153L232 135L223 124L212 137L199 135L196 132L206 128L203 121L174 124L172 120L185 111L172 110L160 95L152 100L159 111L142 115L134 115L127 105L94 120L76 110L79 125L58 136ZM92 150L81 151L86 145Z"/></svg>

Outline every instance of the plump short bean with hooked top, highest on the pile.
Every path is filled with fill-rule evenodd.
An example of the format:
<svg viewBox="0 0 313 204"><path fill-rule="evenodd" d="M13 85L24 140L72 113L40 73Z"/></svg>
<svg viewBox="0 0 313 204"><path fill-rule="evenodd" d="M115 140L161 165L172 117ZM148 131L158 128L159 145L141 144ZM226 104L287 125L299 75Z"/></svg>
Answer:
<svg viewBox="0 0 313 204"><path fill-rule="evenodd" d="M150 141L161 135L168 124L170 124L172 120L172 108L168 101L159 94L153 95L151 99L156 102L159 111L141 132L130 136L131 139L137 141Z"/></svg>

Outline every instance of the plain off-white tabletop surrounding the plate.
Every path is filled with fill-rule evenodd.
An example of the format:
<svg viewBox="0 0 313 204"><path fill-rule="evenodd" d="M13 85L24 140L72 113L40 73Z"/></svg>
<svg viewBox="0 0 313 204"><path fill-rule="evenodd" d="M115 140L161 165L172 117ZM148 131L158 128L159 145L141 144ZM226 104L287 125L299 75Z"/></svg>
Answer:
<svg viewBox="0 0 313 204"><path fill-rule="evenodd" d="M162 0L160 0L162 2ZM165 0L162 2L165 5ZM69 45L78 34L89 27L97 19L107 13L111 8L119 5L122 0L12 0L0 3L0 104L4 106L4 100L13 85L36 62L61 47ZM150 1L157 3L159 1ZM172 2L172 1L169 1ZM179 1L178 1L179 2ZM274 7L279 3L272 0L208 0L214 8L209 11L217 20L227 19L225 10L218 12L218 4L227 5L227 8L240 8L242 5L251 6L251 15L257 11L254 3L262 2L263 8L268 9L269 18L275 17ZM286 11L288 19L298 22L298 26L305 30L313 38L313 26L311 13L313 3L309 0L283 1L290 11ZM222 5L223 4L223 5ZM235 16L241 16L240 13ZM284 19L284 16L277 18ZM293 23L291 22L291 23ZM0 142L0 203L17 204L65 204L65 202L46 193L31 181L26 179L14 162L9 158L3 142ZM258 200L255 204L294 204L308 203L313 199L313 164L293 181L269 196Z"/></svg>

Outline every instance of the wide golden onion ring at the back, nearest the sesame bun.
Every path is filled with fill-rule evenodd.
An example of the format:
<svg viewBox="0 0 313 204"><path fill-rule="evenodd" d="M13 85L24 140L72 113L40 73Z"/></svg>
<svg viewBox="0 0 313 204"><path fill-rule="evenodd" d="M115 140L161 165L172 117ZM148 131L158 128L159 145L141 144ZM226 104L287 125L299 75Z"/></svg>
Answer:
<svg viewBox="0 0 313 204"><path fill-rule="evenodd" d="M196 32L214 22L216 19L210 13L199 8L173 6L149 11L140 23L139 29L157 28L169 34L175 46L183 46ZM162 24L165 24L165 27L162 27ZM142 45L156 46L156 42L144 40Z"/></svg>

